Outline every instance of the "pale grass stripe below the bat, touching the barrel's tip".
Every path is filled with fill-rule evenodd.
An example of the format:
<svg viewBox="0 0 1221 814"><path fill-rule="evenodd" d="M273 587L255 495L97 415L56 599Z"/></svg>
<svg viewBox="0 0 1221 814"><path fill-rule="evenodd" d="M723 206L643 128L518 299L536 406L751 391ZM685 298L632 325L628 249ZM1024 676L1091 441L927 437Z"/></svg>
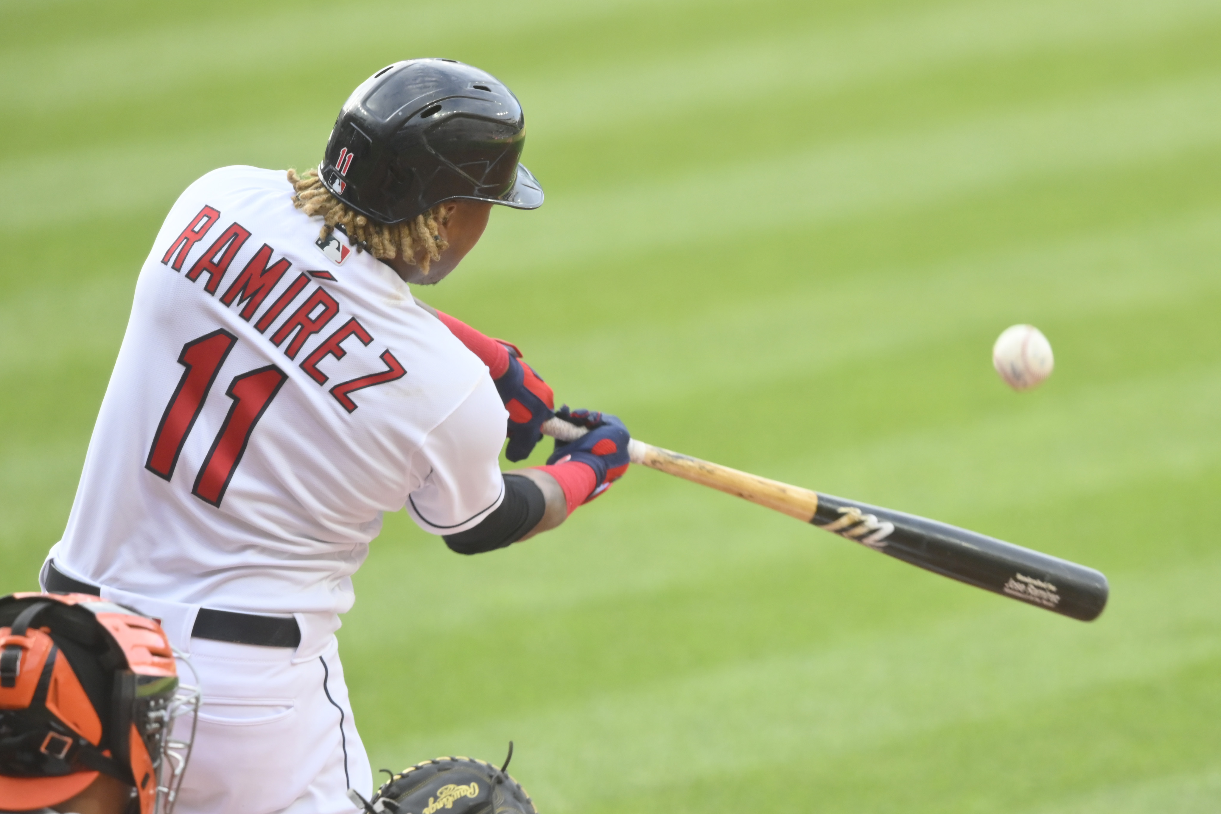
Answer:
<svg viewBox="0 0 1221 814"><path fill-rule="evenodd" d="M1092 626L1006 607L729 665L645 692L597 694L529 718L407 736L381 747L374 762L392 751L444 752L449 743L490 748L513 731L518 743L530 744L531 791L558 802L557 810L575 810L600 798L712 781L729 766L747 774L774 755L842 758L952 721L987 720L1215 659L1221 639L1208 597L1219 577L1221 563L1212 560L1123 580L1118 600Z"/></svg>

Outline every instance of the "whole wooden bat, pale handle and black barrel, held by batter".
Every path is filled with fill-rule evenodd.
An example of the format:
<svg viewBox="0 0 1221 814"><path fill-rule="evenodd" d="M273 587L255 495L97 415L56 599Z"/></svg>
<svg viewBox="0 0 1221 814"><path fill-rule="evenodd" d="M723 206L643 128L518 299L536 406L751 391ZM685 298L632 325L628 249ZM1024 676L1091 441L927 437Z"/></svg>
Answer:
<svg viewBox="0 0 1221 814"><path fill-rule="evenodd" d="M560 441L574 441L587 432L560 419L551 419L542 431ZM628 453L632 464L736 494L984 591L1082 621L1098 619L1106 607L1106 577L1077 563L935 520L819 494L635 438Z"/></svg>

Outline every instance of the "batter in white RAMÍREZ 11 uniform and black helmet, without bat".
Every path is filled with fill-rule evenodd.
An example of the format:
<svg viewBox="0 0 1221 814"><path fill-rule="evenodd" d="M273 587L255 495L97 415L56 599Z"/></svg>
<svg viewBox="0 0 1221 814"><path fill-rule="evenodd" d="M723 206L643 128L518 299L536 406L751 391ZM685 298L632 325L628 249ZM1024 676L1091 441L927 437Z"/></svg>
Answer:
<svg viewBox="0 0 1221 814"><path fill-rule="evenodd" d="M371 797L335 631L386 511L464 554L556 527L628 467L614 416L502 474L557 415L513 345L418 303L493 204L535 209L525 121L453 60L382 68L316 170L223 167L140 270L44 589L160 620L204 691L181 814L350 813Z"/></svg>

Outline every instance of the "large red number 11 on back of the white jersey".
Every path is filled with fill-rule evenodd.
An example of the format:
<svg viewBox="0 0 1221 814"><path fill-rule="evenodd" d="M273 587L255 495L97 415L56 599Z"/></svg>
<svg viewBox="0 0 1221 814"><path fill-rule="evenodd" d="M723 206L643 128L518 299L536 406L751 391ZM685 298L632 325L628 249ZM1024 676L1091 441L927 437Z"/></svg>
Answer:
<svg viewBox="0 0 1221 814"><path fill-rule="evenodd" d="M144 463L144 467L158 477L166 481L173 477L187 436L204 409L204 400L216 382L221 365L236 344L237 337L221 328L182 345L178 364L186 370L165 406ZM288 375L275 365L233 377L225 391L233 404L199 467L192 494L214 506L221 505L233 472L242 463L250 433L286 381Z"/></svg>

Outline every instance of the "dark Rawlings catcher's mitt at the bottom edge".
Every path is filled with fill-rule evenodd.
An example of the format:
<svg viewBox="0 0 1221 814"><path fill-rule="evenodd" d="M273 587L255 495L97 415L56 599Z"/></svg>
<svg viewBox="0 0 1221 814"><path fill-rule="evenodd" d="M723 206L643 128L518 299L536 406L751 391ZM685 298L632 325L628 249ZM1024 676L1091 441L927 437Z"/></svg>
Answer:
<svg viewBox="0 0 1221 814"><path fill-rule="evenodd" d="M509 752L512 755L512 751ZM369 808L377 814L538 814L530 794L509 776L471 758L425 760L393 775Z"/></svg>

